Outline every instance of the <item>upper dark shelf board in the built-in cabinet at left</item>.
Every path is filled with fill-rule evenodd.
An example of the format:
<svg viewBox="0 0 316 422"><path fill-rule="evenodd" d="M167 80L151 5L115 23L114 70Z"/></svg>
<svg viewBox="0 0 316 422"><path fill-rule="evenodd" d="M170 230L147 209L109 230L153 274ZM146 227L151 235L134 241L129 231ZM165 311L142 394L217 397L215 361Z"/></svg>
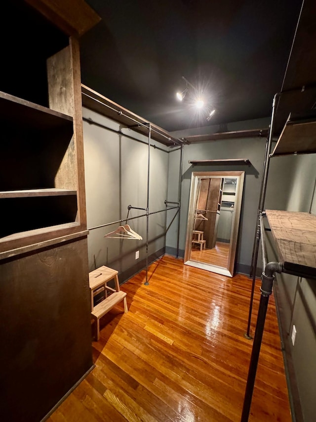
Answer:
<svg viewBox="0 0 316 422"><path fill-rule="evenodd" d="M1 91L0 121L36 130L73 126L71 116Z"/></svg>

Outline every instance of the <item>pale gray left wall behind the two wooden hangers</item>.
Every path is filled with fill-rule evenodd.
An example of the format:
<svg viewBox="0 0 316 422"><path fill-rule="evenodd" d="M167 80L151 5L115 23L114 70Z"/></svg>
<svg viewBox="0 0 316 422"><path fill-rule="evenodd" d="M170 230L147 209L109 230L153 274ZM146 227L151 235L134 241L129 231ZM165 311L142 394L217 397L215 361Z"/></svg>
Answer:
<svg viewBox="0 0 316 422"><path fill-rule="evenodd" d="M147 218L128 221L130 227L143 240L104 237L118 228L119 223L93 229L120 219L146 214L146 210L131 209L147 207L148 138L121 128L118 123L86 108L83 117L90 118L113 131L120 130L126 136L83 123L84 166L86 186L89 271L106 265L119 272L119 281L140 271L146 265ZM152 145L164 149L150 148L149 212L165 209L168 181L168 153L164 145L151 141ZM122 224L125 224L123 221ZM166 212L149 216L148 257L155 258L164 253ZM135 252L139 250L139 259Z"/></svg>

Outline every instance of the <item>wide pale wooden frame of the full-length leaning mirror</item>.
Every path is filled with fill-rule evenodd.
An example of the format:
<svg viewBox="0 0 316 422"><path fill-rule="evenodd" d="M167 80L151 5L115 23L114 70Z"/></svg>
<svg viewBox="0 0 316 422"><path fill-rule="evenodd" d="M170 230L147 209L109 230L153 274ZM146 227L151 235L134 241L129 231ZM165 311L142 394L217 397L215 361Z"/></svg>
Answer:
<svg viewBox="0 0 316 422"><path fill-rule="evenodd" d="M202 270L207 270L213 273L222 274L224 276L233 277L234 270L235 270L235 258L236 258L237 238L238 238L238 231L239 231L239 218L240 218L244 173L245 173L244 171L192 172L190 198L189 198L186 248L185 248L185 254L184 254L185 265L190 265L192 267L197 267ZM231 232L231 241L230 241L230 246L229 246L227 268L219 267L211 263L207 264L201 261L195 261L191 259L192 232L194 229L195 206L197 203L197 194L198 194L197 192L198 181L201 178L211 178L211 177L237 178L234 215L233 215L233 221L232 221L232 232Z"/></svg>

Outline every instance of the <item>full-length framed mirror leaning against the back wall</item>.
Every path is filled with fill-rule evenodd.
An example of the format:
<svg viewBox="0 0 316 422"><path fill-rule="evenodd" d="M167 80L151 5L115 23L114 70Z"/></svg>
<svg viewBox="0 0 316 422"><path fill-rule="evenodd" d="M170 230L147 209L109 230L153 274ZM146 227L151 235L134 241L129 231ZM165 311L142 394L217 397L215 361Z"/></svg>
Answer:
<svg viewBox="0 0 316 422"><path fill-rule="evenodd" d="M233 277L243 171L193 172L184 263Z"/></svg>

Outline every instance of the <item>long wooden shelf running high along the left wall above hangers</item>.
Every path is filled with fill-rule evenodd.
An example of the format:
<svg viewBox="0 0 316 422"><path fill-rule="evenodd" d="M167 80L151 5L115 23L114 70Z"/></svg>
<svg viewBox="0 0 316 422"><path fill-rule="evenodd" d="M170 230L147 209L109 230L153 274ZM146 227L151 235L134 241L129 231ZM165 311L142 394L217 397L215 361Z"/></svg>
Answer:
<svg viewBox="0 0 316 422"><path fill-rule="evenodd" d="M109 117L112 120L123 125L125 128L133 129L142 135L148 136L149 123L143 117L137 116L126 108L118 105L111 101L109 98L91 90L85 85L81 84L82 94L82 105L96 113L99 113L105 117ZM151 124L151 138L155 141L163 143L164 145L181 145L183 141L172 137L164 129Z"/></svg>

